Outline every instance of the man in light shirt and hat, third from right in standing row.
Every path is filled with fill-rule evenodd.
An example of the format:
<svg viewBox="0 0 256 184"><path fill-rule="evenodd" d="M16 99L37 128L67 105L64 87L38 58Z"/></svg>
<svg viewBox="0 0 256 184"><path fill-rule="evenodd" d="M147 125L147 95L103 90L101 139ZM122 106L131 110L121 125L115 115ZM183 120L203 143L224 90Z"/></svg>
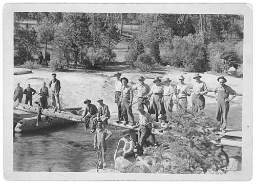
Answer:
<svg viewBox="0 0 256 184"><path fill-rule="evenodd" d="M178 80L180 81L180 84L178 84L174 88L175 95L177 95L178 97L179 108L187 111L187 96L190 96L190 90L188 86L184 83L185 78L183 75L180 75L178 77Z"/></svg>

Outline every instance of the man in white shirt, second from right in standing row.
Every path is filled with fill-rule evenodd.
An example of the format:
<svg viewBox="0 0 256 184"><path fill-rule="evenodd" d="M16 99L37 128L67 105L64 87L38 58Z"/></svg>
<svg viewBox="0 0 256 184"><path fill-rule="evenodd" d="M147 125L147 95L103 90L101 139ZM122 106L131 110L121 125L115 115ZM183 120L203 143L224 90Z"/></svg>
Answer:
<svg viewBox="0 0 256 184"><path fill-rule="evenodd" d="M191 95L192 109L194 113L204 111L204 95L208 93L206 84L200 80L201 77L202 76L199 73L196 73L193 77L196 80L196 83L193 86L193 93Z"/></svg>

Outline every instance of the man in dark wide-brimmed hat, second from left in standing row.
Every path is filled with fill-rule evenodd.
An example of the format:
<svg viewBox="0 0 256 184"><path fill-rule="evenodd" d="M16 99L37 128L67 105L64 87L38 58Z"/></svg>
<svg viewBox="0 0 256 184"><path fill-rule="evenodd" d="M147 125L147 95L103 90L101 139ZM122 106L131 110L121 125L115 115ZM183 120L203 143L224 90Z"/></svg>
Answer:
<svg viewBox="0 0 256 184"><path fill-rule="evenodd" d="M122 82L122 92L121 92L121 106L122 106L122 114L125 120L125 123L128 124L128 115L132 118L131 124L134 124L134 116L133 116L133 110L132 110L132 105L133 105L133 88L127 83L129 83L129 80L126 77L121 78Z"/></svg>

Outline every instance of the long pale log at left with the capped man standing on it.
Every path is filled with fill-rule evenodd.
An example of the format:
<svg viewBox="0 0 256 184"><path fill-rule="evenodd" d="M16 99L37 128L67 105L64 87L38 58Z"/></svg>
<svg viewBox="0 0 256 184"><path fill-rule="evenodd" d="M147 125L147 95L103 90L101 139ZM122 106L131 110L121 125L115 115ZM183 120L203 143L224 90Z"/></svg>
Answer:
<svg viewBox="0 0 256 184"><path fill-rule="evenodd" d="M38 106L29 106L28 104L14 102L13 109L18 109L18 110L37 114ZM66 119L66 120L75 121L75 122L84 122L84 118L81 120L81 116L75 115L70 112L65 112L65 111L54 112L53 109L42 109L42 115L59 118L59 119Z"/></svg>

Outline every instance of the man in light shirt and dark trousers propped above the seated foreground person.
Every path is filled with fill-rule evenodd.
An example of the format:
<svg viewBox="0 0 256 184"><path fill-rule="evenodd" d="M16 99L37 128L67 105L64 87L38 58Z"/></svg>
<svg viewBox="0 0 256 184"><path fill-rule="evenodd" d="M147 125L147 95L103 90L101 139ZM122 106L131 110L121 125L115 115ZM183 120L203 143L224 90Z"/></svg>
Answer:
<svg viewBox="0 0 256 184"><path fill-rule="evenodd" d="M138 132L138 154L141 155L143 154L143 144L146 143L146 140L148 137L151 136L152 131L155 132L154 128L154 120L152 119L151 115L147 112L144 111L143 106L139 106L137 109L140 114L139 114L139 123L133 128L139 127L139 132Z"/></svg>

